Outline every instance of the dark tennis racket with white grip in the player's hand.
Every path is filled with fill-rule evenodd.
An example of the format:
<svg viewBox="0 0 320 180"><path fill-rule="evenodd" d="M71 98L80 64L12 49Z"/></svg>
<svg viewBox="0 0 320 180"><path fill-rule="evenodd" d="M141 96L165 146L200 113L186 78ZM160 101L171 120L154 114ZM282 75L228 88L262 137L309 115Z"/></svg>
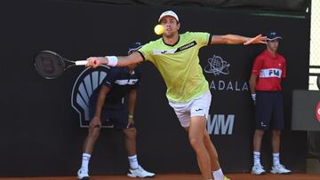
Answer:
<svg viewBox="0 0 320 180"><path fill-rule="evenodd" d="M36 54L34 66L45 79L55 79L69 67L84 66L87 62L87 60L68 60L54 51L40 51Z"/></svg>

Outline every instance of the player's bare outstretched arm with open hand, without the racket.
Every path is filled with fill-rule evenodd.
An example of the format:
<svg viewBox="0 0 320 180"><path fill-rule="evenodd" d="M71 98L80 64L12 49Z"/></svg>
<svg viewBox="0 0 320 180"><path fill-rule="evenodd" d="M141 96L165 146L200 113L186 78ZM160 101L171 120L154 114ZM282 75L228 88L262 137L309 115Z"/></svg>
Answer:
<svg viewBox="0 0 320 180"><path fill-rule="evenodd" d="M266 43L267 37L257 35L255 37L246 37L242 35L212 35L211 44L244 44Z"/></svg>

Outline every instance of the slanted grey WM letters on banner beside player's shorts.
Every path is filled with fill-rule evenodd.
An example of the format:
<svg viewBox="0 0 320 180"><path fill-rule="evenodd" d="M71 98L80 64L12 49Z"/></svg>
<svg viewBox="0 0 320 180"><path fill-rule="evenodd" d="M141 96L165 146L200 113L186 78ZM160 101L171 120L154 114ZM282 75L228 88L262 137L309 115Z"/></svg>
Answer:
<svg viewBox="0 0 320 180"><path fill-rule="evenodd" d="M211 135L232 135L235 122L235 114L211 114L208 116L207 130Z"/></svg>

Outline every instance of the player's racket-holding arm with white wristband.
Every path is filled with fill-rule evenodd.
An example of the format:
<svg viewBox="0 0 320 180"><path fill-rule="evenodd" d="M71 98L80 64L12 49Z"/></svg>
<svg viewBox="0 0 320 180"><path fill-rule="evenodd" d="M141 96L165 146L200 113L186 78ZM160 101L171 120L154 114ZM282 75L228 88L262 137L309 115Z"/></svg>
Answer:
<svg viewBox="0 0 320 180"><path fill-rule="evenodd" d="M106 56L106 57L90 57L85 67L99 67L107 65L109 67L127 67L128 65L137 64L143 61L140 53L133 52L129 56Z"/></svg>

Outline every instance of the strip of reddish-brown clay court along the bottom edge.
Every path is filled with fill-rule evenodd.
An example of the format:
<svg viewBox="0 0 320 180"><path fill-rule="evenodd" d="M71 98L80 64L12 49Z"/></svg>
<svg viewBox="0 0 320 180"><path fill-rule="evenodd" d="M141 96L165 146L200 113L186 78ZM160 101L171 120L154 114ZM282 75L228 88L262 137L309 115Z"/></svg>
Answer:
<svg viewBox="0 0 320 180"><path fill-rule="evenodd" d="M228 174L231 180L320 180L320 175L292 174L252 176L250 174ZM90 180L133 180L127 176L91 176ZM145 180L202 180L200 175L194 174L165 174L156 175L154 178L143 178ZM0 180L77 180L76 176L52 176L52 177L0 177Z"/></svg>

